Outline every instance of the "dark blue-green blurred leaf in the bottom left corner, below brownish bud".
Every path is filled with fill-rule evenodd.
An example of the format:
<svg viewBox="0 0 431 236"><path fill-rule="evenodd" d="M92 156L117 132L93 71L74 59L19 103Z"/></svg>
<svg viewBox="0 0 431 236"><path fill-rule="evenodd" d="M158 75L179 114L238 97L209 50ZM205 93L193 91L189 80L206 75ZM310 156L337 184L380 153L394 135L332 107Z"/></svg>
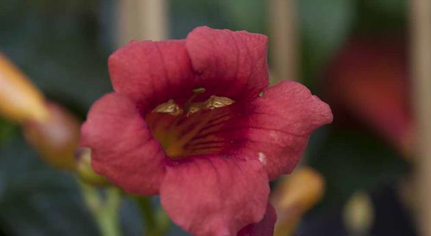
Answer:
<svg viewBox="0 0 431 236"><path fill-rule="evenodd" d="M40 161L23 137L0 149L0 221L7 235L97 235L70 174Z"/></svg>

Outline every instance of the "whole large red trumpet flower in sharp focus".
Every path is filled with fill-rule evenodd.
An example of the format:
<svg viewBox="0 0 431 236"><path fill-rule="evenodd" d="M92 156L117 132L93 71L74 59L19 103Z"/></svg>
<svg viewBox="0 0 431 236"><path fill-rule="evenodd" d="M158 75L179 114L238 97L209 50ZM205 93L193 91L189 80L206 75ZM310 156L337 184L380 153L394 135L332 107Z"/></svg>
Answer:
<svg viewBox="0 0 431 236"><path fill-rule="evenodd" d="M160 194L194 235L272 235L268 182L293 170L332 114L299 83L267 88L266 54L266 36L208 27L118 49L115 92L81 128L94 170L129 193Z"/></svg>

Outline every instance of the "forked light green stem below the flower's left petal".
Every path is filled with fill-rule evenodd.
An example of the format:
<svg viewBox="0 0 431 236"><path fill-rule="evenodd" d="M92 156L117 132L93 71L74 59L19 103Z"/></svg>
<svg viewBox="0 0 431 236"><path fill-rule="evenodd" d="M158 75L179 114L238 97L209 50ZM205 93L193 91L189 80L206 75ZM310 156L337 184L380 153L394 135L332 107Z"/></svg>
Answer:
<svg viewBox="0 0 431 236"><path fill-rule="evenodd" d="M107 187L105 198L92 185L79 181L81 194L90 213L92 214L102 236L120 236L118 208L120 207L120 190L116 187Z"/></svg>

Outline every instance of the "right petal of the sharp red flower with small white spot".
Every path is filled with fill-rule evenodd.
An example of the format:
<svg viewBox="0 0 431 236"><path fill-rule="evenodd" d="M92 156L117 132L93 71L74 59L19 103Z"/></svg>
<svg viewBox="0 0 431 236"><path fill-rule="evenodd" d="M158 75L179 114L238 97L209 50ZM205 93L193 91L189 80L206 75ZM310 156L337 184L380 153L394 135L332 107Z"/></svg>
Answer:
<svg viewBox="0 0 431 236"><path fill-rule="evenodd" d="M231 138L226 155L259 159L270 180L298 163L311 132L332 122L330 107L300 83L280 81L254 99L223 128Z"/></svg>

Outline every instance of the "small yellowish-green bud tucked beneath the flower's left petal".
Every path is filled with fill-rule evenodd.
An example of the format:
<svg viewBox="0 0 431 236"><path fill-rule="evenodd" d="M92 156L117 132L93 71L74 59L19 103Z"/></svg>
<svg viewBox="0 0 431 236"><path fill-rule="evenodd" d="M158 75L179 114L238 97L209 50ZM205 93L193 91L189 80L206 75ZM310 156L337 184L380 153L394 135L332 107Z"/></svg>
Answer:
<svg viewBox="0 0 431 236"><path fill-rule="evenodd" d="M94 172L91 166L91 149L80 147L77 150L77 174L79 178L90 185L109 185L109 181Z"/></svg>

